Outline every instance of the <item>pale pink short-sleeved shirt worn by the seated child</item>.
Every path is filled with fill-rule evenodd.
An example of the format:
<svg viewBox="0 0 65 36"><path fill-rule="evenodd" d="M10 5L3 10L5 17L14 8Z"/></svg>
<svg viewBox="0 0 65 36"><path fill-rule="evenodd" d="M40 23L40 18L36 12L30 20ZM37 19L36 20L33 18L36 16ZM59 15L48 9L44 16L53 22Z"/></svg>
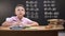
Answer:
<svg viewBox="0 0 65 36"><path fill-rule="evenodd" d="M18 18L17 18L16 16L13 16L13 17L11 17L11 18L6 18L6 19L5 19L5 21L11 22L12 25L14 25L14 23L17 22L17 20L18 20ZM25 24L31 24L34 21L31 21L31 20L28 19L28 18L23 17L23 18L21 19L21 22L25 25ZM21 24L21 25L23 25L23 24Z"/></svg>

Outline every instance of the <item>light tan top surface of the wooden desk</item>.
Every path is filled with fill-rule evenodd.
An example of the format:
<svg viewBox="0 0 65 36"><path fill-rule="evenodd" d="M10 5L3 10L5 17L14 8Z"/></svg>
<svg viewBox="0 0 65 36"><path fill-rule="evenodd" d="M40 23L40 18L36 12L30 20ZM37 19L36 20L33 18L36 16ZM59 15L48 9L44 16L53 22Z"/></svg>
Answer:
<svg viewBox="0 0 65 36"><path fill-rule="evenodd" d="M21 31L50 31L50 30L63 30L63 25L58 25L57 28L50 28L47 29L46 25L39 25L39 26L29 26L27 29L22 29ZM0 31L12 31L10 28L0 26Z"/></svg>

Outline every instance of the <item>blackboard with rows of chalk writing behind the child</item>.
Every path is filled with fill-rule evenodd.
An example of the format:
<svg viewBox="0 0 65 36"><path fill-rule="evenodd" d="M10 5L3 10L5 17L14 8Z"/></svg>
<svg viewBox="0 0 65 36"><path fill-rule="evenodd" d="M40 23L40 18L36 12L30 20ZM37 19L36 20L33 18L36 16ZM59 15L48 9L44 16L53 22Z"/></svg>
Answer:
<svg viewBox="0 0 65 36"><path fill-rule="evenodd" d="M48 19L65 19L65 0L0 0L0 23L14 16L16 4L24 4L25 17L47 25Z"/></svg>

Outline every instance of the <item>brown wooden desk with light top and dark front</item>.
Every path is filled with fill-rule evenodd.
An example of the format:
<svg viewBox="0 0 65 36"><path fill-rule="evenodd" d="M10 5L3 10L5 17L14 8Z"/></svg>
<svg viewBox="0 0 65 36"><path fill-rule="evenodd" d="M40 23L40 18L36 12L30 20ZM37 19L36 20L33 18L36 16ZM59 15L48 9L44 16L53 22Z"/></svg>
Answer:
<svg viewBox="0 0 65 36"><path fill-rule="evenodd" d="M0 26L0 36L57 36L61 28L46 29L46 26L30 26L24 30L10 30L9 28Z"/></svg>

